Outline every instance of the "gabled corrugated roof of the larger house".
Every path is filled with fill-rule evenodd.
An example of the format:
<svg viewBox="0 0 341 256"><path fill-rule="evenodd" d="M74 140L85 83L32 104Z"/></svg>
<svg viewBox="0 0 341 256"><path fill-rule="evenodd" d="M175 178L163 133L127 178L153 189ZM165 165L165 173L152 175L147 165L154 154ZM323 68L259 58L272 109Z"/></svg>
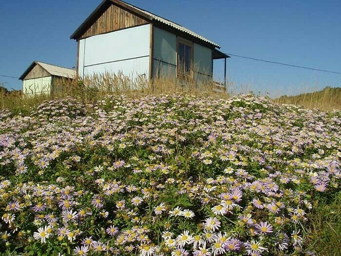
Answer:
<svg viewBox="0 0 341 256"><path fill-rule="evenodd" d="M193 38L199 39L214 47L220 48L219 44L216 44L215 42L212 42L204 38L203 36L200 36L199 34L194 33L193 31L189 30L188 28L185 28L184 26L181 26L170 20L166 20L160 16L157 16L151 12L148 12L146 10L143 10L141 8L138 8L132 4L126 3L121 0L103 0L95 9L95 11L76 29L76 31L71 35L70 38L79 39L79 37L85 33L85 31L95 22L95 20L98 19L99 16L103 14L103 12L105 12L105 10L110 6L110 4L115 4L124 9L127 9L130 12L143 17L144 19L148 20L151 23L162 23L163 25L166 25L170 28L186 33Z"/></svg>

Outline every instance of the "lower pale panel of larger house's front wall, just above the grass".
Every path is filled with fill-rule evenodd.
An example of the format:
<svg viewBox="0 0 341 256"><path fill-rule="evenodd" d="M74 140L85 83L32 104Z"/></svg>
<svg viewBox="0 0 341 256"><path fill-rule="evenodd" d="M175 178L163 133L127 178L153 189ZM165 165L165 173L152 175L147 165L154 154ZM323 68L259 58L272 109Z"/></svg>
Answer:
<svg viewBox="0 0 341 256"><path fill-rule="evenodd" d="M149 56L139 59L128 59L110 63L104 63L84 68L85 74L103 74L103 73L122 72L123 75L135 79L138 75L145 74L149 78Z"/></svg>

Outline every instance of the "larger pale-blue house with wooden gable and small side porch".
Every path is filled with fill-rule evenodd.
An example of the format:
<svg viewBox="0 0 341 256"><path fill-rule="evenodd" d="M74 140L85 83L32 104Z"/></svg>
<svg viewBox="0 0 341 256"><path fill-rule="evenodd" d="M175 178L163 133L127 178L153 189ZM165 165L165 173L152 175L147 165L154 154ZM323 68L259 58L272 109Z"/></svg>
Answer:
<svg viewBox="0 0 341 256"><path fill-rule="evenodd" d="M121 72L131 78L212 79L220 46L189 29L121 0L104 0L76 29L79 77Z"/></svg>

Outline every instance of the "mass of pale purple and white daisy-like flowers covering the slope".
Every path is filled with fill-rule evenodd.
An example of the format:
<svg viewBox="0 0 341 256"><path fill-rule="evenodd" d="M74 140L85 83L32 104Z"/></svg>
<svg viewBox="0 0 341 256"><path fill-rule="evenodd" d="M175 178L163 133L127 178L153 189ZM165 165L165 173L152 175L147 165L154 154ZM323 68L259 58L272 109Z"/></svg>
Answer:
<svg viewBox="0 0 341 256"><path fill-rule="evenodd" d="M312 254L307 213L340 190L340 112L253 95L93 109L0 120L4 255Z"/></svg>

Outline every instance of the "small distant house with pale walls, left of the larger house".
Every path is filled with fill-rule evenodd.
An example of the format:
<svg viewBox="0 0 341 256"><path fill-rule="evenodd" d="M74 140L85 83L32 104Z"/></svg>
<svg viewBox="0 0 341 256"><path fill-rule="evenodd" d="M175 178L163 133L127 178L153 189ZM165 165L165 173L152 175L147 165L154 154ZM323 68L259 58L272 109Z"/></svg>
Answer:
<svg viewBox="0 0 341 256"><path fill-rule="evenodd" d="M33 61L19 79L22 80L23 94L34 96L54 93L62 79L74 78L76 78L76 70Z"/></svg>

